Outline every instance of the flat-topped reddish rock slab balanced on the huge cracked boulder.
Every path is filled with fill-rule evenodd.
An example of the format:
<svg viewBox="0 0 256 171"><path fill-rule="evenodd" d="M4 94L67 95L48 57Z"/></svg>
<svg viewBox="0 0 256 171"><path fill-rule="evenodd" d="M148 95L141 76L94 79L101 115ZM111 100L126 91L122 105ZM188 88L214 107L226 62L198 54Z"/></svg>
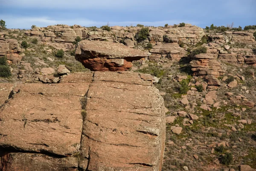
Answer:
<svg viewBox="0 0 256 171"><path fill-rule="evenodd" d="M108 41L80 41L76 60L93 71L125 71L132 61L148 57L149 53Z"/></svg>

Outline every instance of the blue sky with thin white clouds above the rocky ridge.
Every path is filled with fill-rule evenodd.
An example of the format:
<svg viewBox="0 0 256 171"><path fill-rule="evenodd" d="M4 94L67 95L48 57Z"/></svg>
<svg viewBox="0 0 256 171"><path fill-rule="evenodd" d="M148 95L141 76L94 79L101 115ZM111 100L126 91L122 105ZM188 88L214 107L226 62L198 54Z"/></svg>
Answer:
<svg viewBox="0 0 256 171"><path fill-rule="evenodd" d="M256 25L256 0L0 0L7 28L33 24L164 26L191 23L205 28Z"/></svg>

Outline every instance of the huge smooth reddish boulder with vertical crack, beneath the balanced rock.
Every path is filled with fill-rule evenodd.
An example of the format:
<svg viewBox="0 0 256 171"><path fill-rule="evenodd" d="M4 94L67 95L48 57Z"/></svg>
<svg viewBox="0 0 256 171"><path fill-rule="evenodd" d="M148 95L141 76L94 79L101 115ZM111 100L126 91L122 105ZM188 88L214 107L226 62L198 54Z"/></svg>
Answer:
<svg viewBox="0 0 256 171"><path fill-rule="evenodd" d="M0 84L0 170L160 171L165 107L153 80L76 72L58 84Z"/></svg>

